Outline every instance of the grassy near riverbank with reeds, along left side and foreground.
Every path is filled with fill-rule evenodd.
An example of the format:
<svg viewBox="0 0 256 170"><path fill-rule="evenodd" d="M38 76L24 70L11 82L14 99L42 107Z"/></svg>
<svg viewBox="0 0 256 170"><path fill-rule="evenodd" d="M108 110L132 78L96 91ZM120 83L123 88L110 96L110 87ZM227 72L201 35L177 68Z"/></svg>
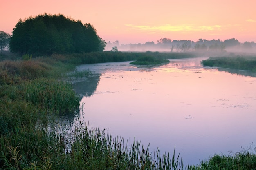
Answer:
<svg viewBox="0 0 256 170"><path fill-rule="evenodd" d="M66 81L69 78L66 73L74 71L77 61L75 57L68 56L75 64L65 55L0 63L1 168L185 168L182 158L175 152L160 154L160 150L157 150L151 153L138 140L126 142L121 137L113 137L105 130L82 122L72 132L69 131L71 124L62 124L59 115L72 113L73 119L78 119L75 115L79 106L72 86ZM91 73L86 71L81 76L86 74ZM71 76L79 75L80 72L74 72ZM55 103L59 98L63 100ZM65 99L68 102L62 105ZM239 154L228 157L215 155L209 161L187 169L255 168L253 150L241 152L240 157L236 155Z"/></svg>

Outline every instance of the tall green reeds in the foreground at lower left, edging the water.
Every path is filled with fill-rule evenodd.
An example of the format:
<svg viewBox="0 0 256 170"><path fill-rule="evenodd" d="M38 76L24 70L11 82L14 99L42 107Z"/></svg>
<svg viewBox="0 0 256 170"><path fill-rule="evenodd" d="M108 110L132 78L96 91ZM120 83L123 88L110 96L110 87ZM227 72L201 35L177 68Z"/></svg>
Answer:
<svg viewBox="0 0 256 170"><path fill-rule="evenodd" d="M0 138L0 163L5 169L167 170L182 169L180 158L156 155L140 141L112 137L105 130L79 124L69 134L58 128L16 128Z"/></svg>

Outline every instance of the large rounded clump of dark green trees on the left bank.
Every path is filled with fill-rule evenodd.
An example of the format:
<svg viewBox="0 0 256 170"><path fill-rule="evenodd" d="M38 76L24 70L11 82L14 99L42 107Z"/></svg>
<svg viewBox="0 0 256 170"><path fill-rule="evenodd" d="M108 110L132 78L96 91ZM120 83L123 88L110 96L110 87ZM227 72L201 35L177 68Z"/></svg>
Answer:
<svg viewBox="0 0 256 170"><path fill-rule="evenodd" d="M106 42L91 24L64 15L38 15L19 20L9 41L12 52L34 55L103 51Z"/></svg>

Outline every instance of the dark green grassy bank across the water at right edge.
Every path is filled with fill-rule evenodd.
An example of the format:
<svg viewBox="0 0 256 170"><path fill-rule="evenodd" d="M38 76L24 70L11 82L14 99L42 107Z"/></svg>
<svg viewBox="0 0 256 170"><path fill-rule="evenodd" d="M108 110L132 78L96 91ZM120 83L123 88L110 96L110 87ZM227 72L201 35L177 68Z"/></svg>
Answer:
<svg viewBox="0 0 256 170"><path fill-rule="evenodd" d="M204 66L217 66L256 72L256 56L210 57L203 60Z"/></svg>

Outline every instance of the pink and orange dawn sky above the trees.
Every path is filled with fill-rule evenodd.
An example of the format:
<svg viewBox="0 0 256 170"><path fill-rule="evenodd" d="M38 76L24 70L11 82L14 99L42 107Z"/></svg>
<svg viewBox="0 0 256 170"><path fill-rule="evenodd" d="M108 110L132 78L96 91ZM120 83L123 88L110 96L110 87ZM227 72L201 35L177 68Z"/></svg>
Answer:
<svg viewBox="0 0 256 170"><path fill-rule="evenodd" d="M255 0L1 0L0 31L19 19L63 14L90 23L106 42L171 40L256 42Z"/></svg>

